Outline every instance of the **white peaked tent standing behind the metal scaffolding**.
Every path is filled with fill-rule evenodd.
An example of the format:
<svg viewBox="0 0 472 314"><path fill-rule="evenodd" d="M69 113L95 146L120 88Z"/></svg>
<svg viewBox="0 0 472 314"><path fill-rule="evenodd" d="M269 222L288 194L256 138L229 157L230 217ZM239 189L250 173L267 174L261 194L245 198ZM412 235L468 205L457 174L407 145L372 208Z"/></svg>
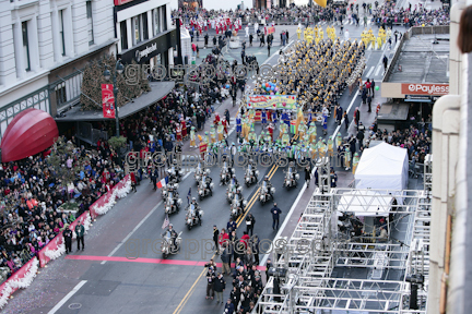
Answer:
<svg viewBox="0 0 472 314"><path fill-rule="evenodd" d="M364 150L355 172L356 189L406 190L408 150L381 143Z"/></svg>

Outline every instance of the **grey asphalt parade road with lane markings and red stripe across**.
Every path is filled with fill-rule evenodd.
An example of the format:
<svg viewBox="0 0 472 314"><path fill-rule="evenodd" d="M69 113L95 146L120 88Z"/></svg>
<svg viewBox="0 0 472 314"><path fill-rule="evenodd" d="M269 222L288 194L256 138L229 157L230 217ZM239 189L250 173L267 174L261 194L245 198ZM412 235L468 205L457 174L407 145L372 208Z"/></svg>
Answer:
<svg viewBox="0 0 472 314"><path fill-rule="evenodd" d="M295 32L290 32L295 34ZM391 51L367 50L368 61L365 77L368 71L370 71L369 77L371 74L381 77L382 70L378 71L378 65L381 62L382 53L390 55ZM266 61L274 64L276 59L275 56ZM352 112L355 107L359 106L361 97L353 98L347 94L344 93L339 101L344 109L350 109L349 114L352 120ZM232 108L228 101L221 105L219 111L225 108L229 108L234 117L235 108ZM374 116L364 114L362 117L365 124L371 120ZM330 118L328 134L333 134L337 126L333 119ZM346 136L349 131L353 132L353 128L346 131L344 125L341 125L340 131L343 136ZM235 142L234 132L229 136L229 142ZM259 179L269 170L270 168L259 167ZM203 225L187 230L184 210L170 216L170 222L175 229L182 231L184 245L180 254L162 261L160 245L153 249L153 243L160 243L161 240L164 208L160 204L161 193L154 192L148 181L143 181L138 188L138 193L129 194L125 200L119 201L107 215L98 218L85 237L87 245L85 251L73 253L66 258L60 257L50 263L48 268L40 270L42 274L28 289L17 292L15 299L10 300L3 312L221 313L223 305L216 305L215 301L204 298L206 282L202 273L203 264L213 254L209 246L208 251L203 250L202 240L211 241L213 225L216 225L219 229L226 226L229 204L225 200L226 186L219 185L220 169L213 167L211 171L211 177L215 182L213 196L199 202L204 210ZM236 169L239 180L244 178L243 171L244 169ZM302 183L303 172L299 171L299 183ZM299 184L297 189L290 191L282 189L283 176L283 169L276 169L271 178L276 189L275 201L282 209L281 224L303 185ZM197 186L192 173L180 183L179 193L184 205L187 204L186 196L189 188L192 188L192 195L196 196ZM257 185L249 189L245 186L243 195L249 201L256 191ZM255 233L260 239L272 240L276 233L272 230L270 208L270 203L261 206L257 200L248 208L256 217ZM297 217L292 219L297 219ZM243 235L245 230L245 224L241 225L244 229L238 228L238 237ZM199 250L192 250L198 253L191 254L187 245L191 240L199 242ZM220 258L216 258L216 262L221 262ZM229 278L226 279L227 289L224 298L227 298L232 288Z"/></svg>

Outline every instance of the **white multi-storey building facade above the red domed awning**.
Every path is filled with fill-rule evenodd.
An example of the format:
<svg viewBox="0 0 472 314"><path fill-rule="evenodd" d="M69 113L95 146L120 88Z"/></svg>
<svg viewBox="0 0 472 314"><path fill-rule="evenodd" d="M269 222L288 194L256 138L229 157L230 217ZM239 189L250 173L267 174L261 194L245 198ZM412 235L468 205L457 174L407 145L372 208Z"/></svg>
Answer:
<svg viewBox="0 0 472 314"><path fill-rule="evenodd" d="M114 3L98 0L0 0L0 138L19 112L55 117L79 101L83 69L116 53Z"/></svg>

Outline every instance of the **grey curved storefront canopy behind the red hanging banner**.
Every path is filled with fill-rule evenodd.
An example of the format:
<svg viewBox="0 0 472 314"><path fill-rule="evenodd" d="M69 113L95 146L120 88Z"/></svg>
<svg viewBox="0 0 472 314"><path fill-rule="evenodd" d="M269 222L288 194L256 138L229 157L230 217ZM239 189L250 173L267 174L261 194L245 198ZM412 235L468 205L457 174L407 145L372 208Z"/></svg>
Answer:
<svg viewBox="0 0 472 314"><path fill-rule="evenodd" d="M168 93L170 93L175 86L174 82L150 82L151 92L141 95L133 101L128 102L123 107L118 109L119 118L126 118L144 108L154 105ZM98 120L110 120L103 117L102 108L97 110L81 111L81 106L75 106L69 111L64 112L63 117L57 117L57 122L76 122L76 121L98 121Z"/></svg>

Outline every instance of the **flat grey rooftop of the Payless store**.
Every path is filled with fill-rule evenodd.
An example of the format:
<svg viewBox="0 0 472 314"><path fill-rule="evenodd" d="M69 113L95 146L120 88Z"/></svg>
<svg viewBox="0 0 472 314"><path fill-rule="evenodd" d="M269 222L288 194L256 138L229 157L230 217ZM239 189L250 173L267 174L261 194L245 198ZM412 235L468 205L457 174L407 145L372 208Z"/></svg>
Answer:
<svg viewBox="0 0 472 314"><path fill-rule="evenodd" d="M438 44L433 44L435 38ZM449 83L449 34L432 34L406 39L386 82Z"/></svg>

